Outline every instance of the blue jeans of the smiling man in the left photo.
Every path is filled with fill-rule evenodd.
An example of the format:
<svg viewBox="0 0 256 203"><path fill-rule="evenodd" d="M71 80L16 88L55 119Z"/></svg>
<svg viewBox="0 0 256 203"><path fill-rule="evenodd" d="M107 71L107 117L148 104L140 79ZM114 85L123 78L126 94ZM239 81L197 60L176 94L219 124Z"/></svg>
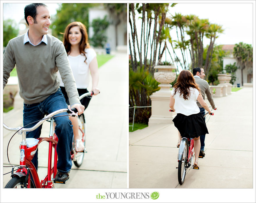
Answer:
<svg viewBox="0 0 256 203"><path fill-rule="evenodd" d="M60 89L54 94L51 94L44 101L36 104L24 104L23 109L23 124L24 126L40 120L44 117L46 113L52 113L56 110L67 108L65 98ZM59 113L57 115L67 115L67 113ZM56 115L56 116L57 116ZM57 154L58 154L58 163L57 169L61 172L67 172L71 169L72 160L70 156L70 151L72 149L72 139L73 139L73 129L72 124L68 116L61 116L54 118L56 122L55 133L58 137L57 144ZM35 123L26 126L30 128L34 126ZM26 137L39 138L41 134L42 125L37 129L31 132L26 132ZM47 152L45 152L47 154ZM38 150L36 151L32 163L35 168L38 168Z"/></svg>

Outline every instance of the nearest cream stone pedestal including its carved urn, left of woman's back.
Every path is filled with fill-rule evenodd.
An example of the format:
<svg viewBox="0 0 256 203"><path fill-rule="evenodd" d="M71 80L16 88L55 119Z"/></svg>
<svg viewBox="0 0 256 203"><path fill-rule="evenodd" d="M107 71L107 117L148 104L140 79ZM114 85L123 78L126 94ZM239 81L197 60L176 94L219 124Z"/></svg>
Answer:
<svg viewBox="0 0 256 203"><path fill-rule="evenodd" d="M170 103L170 83L176 78L176 73L173 73L175 66L155 66L158 72L154 73L156 81L160 82L160 90L150 96L151 99L151 117L148 121L148 126L158 123L172 123L176 113L169 111Z"/></svg>

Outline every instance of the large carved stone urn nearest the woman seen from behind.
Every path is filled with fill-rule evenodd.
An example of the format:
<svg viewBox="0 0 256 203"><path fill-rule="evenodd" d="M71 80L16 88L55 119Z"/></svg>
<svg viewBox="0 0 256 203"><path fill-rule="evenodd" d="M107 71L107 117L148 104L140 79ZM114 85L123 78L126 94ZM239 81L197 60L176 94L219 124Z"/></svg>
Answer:
<svg viewBox="0 0 256 203"><path fill-rule="evenodd" d="M158 71L154 73L154 78L156 81L160 82L160 92L170 92L170 87L172 85L170 84L173 82L176 78L176 73L173 72L175 70L175 66L165 66L165 65L158 65L155 66L154 69L157 69Z"/></svg>

